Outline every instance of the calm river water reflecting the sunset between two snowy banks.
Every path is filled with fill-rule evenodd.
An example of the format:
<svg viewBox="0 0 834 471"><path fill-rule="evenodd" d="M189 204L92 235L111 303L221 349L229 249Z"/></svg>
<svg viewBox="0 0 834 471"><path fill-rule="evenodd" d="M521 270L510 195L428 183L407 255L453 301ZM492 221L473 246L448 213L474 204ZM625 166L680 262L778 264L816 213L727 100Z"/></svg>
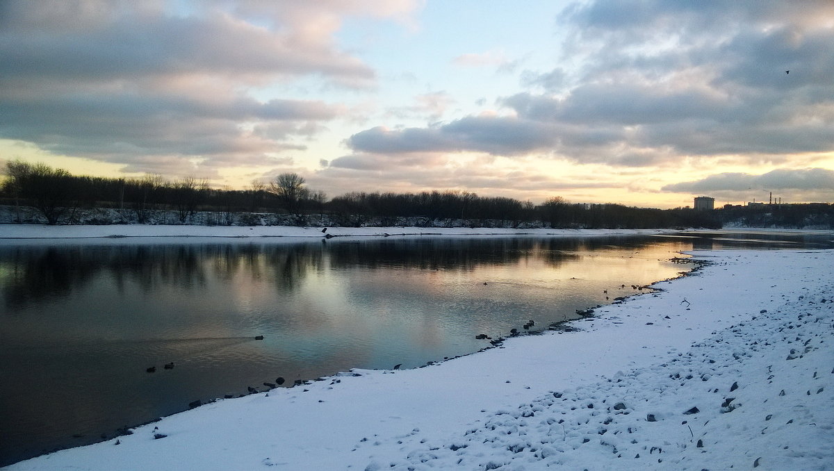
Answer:
<svg viewBox="0 0 834 471"><path fill-rule="evenodd" d="M2 246L0 465L278 377L473 353L490 345L479 333L547 328L675 277L680 250L825 246L749 233Z"/></svg>

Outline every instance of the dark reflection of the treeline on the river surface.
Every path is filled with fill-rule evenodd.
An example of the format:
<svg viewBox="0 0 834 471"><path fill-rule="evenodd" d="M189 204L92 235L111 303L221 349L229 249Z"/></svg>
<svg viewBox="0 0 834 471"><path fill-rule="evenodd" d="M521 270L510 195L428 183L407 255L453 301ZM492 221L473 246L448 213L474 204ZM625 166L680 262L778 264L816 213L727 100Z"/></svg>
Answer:
<svg viewBox="0 0 834 471"><path fill-rule="evenodd" d="M299 288L325 267L420 268L472 271L538 258L552 268L579 253L610 246L639 249L646 238L400 238L320 243L100 245L0 249L9 307L67 297L100 276L121 291L204 288L210 280L264 279L280 293Z"/></svg>

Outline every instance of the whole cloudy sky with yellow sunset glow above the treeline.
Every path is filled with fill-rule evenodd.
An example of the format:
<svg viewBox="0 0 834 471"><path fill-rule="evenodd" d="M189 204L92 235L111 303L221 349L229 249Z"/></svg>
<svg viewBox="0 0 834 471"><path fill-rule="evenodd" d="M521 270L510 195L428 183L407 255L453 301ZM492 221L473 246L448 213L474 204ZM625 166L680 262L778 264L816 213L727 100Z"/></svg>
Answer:
<svg viewBox="0 0 834 471"><path fill-rule="evenodd" d="M834 203L832 51L830 0L0 0L0 160Z"/></svg>

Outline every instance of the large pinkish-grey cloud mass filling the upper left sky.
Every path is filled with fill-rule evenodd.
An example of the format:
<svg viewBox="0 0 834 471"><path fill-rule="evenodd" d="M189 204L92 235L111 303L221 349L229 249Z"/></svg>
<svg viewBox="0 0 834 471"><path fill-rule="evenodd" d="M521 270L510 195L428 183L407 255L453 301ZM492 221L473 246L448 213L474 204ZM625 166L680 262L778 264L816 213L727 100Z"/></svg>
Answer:
<svg viewBox="0 0 834 471"><path fill-rule="evenodd" d="M414 8L407 0L3 2L0 138L130 172L181 172L193 158L269 164L347 111L251 91L302 78L374 85L374 69L334 34L350 15L405 22ZM183 163L171 164L176 158Z"/></svg>

